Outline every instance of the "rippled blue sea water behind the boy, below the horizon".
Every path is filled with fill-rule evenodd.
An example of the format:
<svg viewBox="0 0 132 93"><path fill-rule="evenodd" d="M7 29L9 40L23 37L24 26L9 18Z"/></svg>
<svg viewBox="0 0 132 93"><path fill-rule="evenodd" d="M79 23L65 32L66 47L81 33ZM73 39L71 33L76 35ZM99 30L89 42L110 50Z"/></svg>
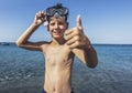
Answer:
<svg viewBox="0 0 132 93"><path fill-rule="evenodd" d="M89 69L75 58L75 93L132 93L132 45L94 44L98 66ZM15 44L0 44L0 93L41 93L44 56Z"/></svg>

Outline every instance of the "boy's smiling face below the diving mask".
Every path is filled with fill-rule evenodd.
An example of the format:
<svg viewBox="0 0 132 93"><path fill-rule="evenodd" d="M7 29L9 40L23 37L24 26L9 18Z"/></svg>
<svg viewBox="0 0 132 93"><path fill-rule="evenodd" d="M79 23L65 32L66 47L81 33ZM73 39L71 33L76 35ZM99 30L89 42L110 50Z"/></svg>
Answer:
<svg viewBox="0 0 132 93"><path fill-rule="evenodd" d="M48 31L51 32L52 38L63 39L64 32L67 29L67 22L65 19L51 19L48 24Z"/></svg>

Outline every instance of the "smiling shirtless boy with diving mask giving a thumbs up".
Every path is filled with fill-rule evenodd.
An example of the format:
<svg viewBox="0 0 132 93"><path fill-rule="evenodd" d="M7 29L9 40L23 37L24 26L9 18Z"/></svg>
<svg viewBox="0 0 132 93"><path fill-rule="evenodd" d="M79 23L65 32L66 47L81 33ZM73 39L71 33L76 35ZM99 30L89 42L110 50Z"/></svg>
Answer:
<svg viewBox="0 0 132 93"><path fill-rule="evenodd" d="M31 27L18 39L16 45L32 51L42 51L45 56L43 93L73 93L72 66L76 55L84 64L95 68L97 53L85 35L80 16L76 27L68 30L68 9L62 4L40 11ZM29 38L45 21L52 35L51 42L31 42ZM64 35L65 34L65 35Z"/></svg>

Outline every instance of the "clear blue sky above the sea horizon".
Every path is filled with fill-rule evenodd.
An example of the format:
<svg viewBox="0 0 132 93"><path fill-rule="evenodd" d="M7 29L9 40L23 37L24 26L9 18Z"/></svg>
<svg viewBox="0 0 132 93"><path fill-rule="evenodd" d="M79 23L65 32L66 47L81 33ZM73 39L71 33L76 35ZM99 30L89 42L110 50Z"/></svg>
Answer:
<svg viewBox="0 0 132 93"><path fill-rule="evenodd" d="M57 2L69 9L68 29L81 16L91 43L132 44L132 0L0 0L0 42L15 42L37 11ZM51 35L42 24L30 40L48 41Z"/></svg>

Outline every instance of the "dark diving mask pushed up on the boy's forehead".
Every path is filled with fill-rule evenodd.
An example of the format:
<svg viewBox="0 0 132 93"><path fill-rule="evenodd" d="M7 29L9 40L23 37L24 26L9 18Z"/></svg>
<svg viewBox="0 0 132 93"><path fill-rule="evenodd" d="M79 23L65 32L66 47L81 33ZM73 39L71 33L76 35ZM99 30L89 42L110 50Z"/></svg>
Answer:
<svg viewBox="0 0 132 93"><path fill-rule="evenodd" d="M46 16L47 17L53 17L55 13L58 13L59 16L67 16L68 14L68 9L65 7L59 6L54 6L51 8L46 9Z"/></svg>

